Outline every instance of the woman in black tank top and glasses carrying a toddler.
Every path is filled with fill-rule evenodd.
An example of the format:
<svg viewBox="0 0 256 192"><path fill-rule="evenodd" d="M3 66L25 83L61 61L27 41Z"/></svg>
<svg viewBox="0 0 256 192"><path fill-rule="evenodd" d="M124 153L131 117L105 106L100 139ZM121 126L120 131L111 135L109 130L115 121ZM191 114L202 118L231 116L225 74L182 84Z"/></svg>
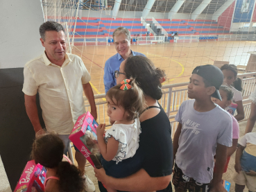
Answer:
<svg viewBox="0 0 256 192"><path fill-rule="evenodd" d="M136 173L119 175L119 178L106 175L103 168L94 168L99 180L111 189L119 191L172 191L171 173L173 147L171 141L171 125L157 100L162 98L161 82L164 71L155 68L153 62L142 56L134 56L124 60L119 71L114 72L117 84L125 79L134 78L144 92L146 107L139 116L141 134L139 148L135 155L116 165L137 167ZM121 173L122 174L122 173Z"/></svg>

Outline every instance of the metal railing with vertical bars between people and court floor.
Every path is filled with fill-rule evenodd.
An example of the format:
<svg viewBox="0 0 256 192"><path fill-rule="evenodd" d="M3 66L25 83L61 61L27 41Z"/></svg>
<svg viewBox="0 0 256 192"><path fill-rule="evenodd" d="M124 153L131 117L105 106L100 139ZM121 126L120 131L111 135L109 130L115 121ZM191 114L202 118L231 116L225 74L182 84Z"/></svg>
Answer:
<svg viewBox="0 0 256 192"><path fill-rule="evenodd" d="M250 100L248 97L250 94L255 90L256 87L256 72L253 73L241 73L238 74L238 77L242 80L243 85L243 105L244 105L244 114L245 119L248 119L250 115ZM170 85L162 86L163 95L162 98L158 101L160 105L162 105L164 111L167 113L167 116L170 119L172 133L176 131L178 126L177 122L174 120L176 113L180 107L180 104L183 101L188 100L187 96L187 85L189 82L182 82ZM85 97L84 97L85 98ZM110 125L109 118L107 115L107 107L105 99L105 94L98 94L94 95L97 111L98 111L98 122L99 123L106 123L107 126ZM85 98L86 100L86 98ZM89 104L85 104L86 110L89 110ZM174 131L174 132L173 132Z"/></svg>

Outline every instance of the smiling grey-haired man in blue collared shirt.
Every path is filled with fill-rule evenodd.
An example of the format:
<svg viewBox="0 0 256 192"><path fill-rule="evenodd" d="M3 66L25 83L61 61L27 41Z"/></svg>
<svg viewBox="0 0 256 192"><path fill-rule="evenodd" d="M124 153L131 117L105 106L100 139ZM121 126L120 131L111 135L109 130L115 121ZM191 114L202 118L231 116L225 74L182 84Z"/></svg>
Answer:
<svg viewBox="0 0 256 192"><path fill-rule="evenodd" d="M130 32L127 28L119 27L114 30L113 40L117 54L105 62L103 76L105 93L107 93L111 87L117 85L117 80L114 78L114 71L119 70L120 64L123 60L126 60L130 55L142 55L146 57L144 54L132 51L130 49L132 40L130 37Z"/></svg>

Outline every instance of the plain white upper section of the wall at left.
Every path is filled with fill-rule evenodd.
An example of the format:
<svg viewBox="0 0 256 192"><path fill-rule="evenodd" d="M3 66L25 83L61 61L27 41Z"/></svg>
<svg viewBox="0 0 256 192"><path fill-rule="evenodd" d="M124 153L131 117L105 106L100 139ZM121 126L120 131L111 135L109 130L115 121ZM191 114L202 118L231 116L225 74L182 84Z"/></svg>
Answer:
<svg viewBox="0 0 256 192"><path fill-rule="evenodd" d="M0 69L24 67L42 53L39 27L43 22L40 0L1 1Z"/></svg>

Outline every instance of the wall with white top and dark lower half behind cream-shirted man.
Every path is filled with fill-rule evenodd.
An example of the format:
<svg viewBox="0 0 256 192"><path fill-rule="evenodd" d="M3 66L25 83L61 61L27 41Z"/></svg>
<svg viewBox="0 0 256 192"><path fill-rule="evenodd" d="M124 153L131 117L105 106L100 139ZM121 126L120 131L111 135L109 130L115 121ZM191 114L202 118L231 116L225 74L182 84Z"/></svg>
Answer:
<svg viewBox="0 0 256 192"><path fill-rule="evenodd" d="M35 138L24 106L23 67L44 50L39 35L43 22L40 0L1 1L0 154L12 191L30 159ZM37 106L42 122L38 97Z"/></svg>

